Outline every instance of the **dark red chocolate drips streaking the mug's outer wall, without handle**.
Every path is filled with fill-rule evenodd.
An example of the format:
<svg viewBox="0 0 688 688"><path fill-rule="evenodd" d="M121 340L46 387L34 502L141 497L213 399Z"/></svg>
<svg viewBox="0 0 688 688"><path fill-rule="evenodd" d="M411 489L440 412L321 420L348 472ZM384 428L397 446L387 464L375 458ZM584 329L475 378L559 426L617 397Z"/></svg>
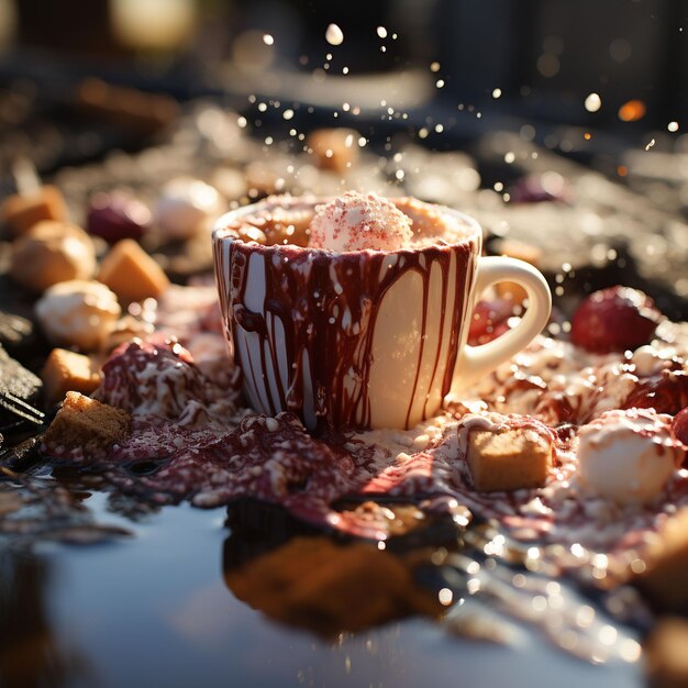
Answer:
<svg viewBox="0 0 688 688"><path fill-rule="evenodd" d="M436 411L436 404L429 408L431 392L448 393L466 335L462 323L479 238L467 235L454 244L395 252L331 253L246 243L232 234L215 232L215 269L228 335L252 406L271 415L292 411L311 429L369 426L376 348L380 358L376 331L385 328L392 336L414 330L420 336L408 343L418 347L418 358L410 371L406 425ZM420 287L413 285L414 292L422 290L419 324L380 322L386 296L410 273L420 277Z"/></svg>

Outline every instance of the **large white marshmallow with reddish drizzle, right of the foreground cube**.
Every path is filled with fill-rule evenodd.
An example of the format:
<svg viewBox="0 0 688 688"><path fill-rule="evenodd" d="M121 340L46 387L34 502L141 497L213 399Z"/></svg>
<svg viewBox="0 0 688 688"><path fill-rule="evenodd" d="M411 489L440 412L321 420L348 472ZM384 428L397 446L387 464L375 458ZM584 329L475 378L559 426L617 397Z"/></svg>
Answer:
<svg viewBox="0 0 688 688"><path fill-rule="evenodd" d="M665 488L684 457L672 417L652 409L612 410L578 431L578 480L618 503L646 503Z"/></svg>

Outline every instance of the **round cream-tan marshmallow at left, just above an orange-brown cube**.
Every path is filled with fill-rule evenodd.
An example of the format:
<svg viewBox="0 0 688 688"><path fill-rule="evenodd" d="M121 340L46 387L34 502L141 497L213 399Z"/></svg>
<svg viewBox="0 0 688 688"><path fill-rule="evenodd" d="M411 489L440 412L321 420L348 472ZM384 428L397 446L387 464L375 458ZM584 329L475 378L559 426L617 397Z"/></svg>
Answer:
<svg viewBox="0 0 688 688"><path fill-rule="evenodd" d="M114 330L122 309L106 285L74 279L51 287L37 301L35 312L55 344L90 352Z"/></svg>

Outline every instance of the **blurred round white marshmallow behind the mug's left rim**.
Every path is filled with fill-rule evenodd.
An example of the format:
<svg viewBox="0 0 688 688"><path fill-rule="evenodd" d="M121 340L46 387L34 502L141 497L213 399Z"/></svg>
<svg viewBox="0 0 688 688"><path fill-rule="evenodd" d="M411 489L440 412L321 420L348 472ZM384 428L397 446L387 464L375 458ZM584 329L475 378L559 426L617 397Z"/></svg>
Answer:
<svg viewBox="0 0 688 688"><path fill-rule="evenodd" d="M225 211L226 203L215 188L200 179L178 177L163 188L154 217L160 234L175 241L210 229Z"/></svg>

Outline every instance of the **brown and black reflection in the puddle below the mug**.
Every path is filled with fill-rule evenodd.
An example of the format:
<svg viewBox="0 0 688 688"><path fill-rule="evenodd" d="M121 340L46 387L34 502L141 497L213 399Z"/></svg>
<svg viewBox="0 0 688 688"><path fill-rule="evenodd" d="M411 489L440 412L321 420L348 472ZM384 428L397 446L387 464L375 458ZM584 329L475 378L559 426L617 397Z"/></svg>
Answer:
<svg viewBox="0 0 688 688"><path fill-rule="evenodd" d="M414 580L418 553L339 542L290 526L284 512L230 510L223 576L230 591L282 624L331 639L409 615L436 617L436 595Z"/></svg>

